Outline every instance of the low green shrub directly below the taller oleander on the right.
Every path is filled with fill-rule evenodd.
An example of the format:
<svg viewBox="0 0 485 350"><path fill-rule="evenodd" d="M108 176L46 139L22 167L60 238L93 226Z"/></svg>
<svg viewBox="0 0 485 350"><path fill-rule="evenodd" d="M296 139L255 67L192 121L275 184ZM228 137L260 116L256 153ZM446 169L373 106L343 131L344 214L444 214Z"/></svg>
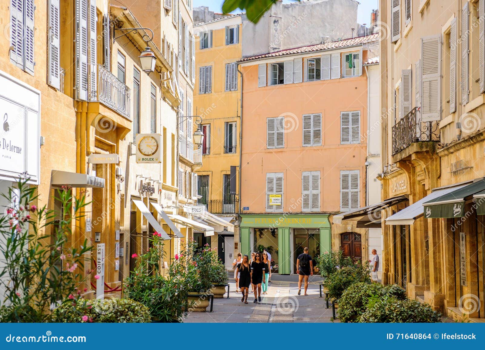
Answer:
<svg viewBox="0 0 485 350"><path fill-rule="evenodd" d="M371 283L371 276L369 269L355 264L343 267L330 274L323 285L328 289L330 299L339 299L345 289L357 282Z"/></svg>

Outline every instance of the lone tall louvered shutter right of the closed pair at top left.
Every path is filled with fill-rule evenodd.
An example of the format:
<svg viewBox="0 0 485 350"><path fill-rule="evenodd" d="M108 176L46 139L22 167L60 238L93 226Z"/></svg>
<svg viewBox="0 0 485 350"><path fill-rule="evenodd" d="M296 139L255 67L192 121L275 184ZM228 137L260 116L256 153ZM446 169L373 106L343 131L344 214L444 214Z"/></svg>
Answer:
<svg viewBox="0 0 485 350"><path fill-rule="evenodd" d="M49 0L49 85L59 90L61 88L59 65L59 0Z"/></svg>

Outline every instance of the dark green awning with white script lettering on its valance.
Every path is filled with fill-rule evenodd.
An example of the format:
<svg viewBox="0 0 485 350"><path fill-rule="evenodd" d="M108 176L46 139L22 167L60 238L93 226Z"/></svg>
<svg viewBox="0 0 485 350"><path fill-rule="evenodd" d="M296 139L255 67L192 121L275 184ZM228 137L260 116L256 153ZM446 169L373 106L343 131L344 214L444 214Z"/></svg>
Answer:
<svg viewBox="0 0 485 350"><path fill-rule="evenodd" d="M453 218L465 215L465 200L485 190L485 179L458 188L446 195L423 203L426 218ZM471 199L471 198L470 198Z"/></svg>

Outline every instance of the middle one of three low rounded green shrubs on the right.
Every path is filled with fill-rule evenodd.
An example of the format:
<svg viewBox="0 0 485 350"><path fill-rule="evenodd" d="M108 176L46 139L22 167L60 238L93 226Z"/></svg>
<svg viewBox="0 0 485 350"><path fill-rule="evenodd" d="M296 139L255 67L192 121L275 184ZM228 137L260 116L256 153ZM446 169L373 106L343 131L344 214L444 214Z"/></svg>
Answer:
<svg viewBox="0 0 485 350"><path fill-rule="evenodd" d="M342 322L358 322L370 301L380 301L393 297L406 299L406 291L398 285L383 286L379 283L354 283L345 289L339 298L339 318Z"/></svg>

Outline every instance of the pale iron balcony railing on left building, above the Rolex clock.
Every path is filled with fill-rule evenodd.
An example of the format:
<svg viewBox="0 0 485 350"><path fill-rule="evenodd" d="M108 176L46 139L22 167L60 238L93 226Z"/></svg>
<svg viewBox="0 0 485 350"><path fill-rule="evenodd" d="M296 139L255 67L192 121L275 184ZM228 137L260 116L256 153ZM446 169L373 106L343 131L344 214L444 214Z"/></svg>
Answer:
<svg viewBox="0 0 485 350"><path fill-rule="evenodd" d="M101 64L90 63L88 70L89 101L100 102L131 120L129 87ZM96 75L93 73L96 73ZM97 79L94 79L94 76L97 76ZM97 81L94 82L93 80Z"/></svg>

